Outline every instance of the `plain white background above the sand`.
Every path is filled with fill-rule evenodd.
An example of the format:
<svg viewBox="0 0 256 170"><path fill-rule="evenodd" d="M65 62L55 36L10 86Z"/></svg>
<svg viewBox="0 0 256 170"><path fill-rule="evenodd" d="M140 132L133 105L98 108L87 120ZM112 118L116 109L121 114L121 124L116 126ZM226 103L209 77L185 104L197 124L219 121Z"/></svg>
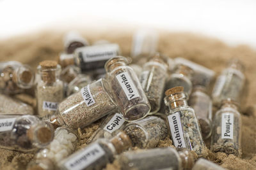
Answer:
<svg viewBox="0 0 256 170"><path fill-rule="evenodd" d="M0 39L39 29L130 24L256 48L256 1L0 0Z"/></svg>

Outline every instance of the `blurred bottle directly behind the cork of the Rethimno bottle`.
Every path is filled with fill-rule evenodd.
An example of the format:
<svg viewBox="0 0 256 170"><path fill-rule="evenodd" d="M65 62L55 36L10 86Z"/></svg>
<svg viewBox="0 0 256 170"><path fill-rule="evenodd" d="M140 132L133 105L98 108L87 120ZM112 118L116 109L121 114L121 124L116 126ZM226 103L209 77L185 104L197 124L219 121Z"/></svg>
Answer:
<svg viewBox="0 0 256 170"><path fill-rule="evenodd" d="M188 96L191 94L192 91L192 83L191 78L193 75L193 70L185 66L183 64L178 64L175 66L174 73L170 75L166 82L166 88L171 89L173 87L184 87L184 92L188 93Z"/></svg>

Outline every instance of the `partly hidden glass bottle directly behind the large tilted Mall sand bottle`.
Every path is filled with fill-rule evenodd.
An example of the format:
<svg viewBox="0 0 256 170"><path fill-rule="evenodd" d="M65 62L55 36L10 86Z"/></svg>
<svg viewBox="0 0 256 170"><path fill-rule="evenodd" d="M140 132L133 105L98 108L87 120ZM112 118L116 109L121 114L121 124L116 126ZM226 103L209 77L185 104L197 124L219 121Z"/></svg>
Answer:
<svg viewBox="0 0 256 170"><path fill-rule="evenodd" d="M67 96L79 92L83 87L92 82L92 77L88 74L78 74L67 86Z"/></svg>

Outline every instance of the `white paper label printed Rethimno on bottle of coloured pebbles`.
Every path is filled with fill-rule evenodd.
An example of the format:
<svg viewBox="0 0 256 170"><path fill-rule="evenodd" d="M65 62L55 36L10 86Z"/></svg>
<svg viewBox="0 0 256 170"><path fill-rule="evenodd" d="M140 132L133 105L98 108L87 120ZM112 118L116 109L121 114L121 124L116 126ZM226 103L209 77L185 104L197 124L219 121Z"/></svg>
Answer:
<svg viewBox="0 0 256 170"><path fill-rule="evenodd" d="M186 148L182 124L180 122L180 113L174 113L168 116L168 122L172 133L172 140L176 148Z"/></svg>

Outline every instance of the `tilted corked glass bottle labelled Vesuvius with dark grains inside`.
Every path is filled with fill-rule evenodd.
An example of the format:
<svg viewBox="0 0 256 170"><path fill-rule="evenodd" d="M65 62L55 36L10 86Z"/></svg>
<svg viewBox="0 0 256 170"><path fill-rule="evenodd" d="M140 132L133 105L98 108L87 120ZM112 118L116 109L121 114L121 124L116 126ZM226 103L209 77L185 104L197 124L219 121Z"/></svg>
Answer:
<svg viewBox="0 0 256 170"><path fill-rule="evenodd" d="M146 117L150 104L136 73L129 66L129 60L118 56L106 62L107 80L112 96L125 120L132 121Z"/></svg>

